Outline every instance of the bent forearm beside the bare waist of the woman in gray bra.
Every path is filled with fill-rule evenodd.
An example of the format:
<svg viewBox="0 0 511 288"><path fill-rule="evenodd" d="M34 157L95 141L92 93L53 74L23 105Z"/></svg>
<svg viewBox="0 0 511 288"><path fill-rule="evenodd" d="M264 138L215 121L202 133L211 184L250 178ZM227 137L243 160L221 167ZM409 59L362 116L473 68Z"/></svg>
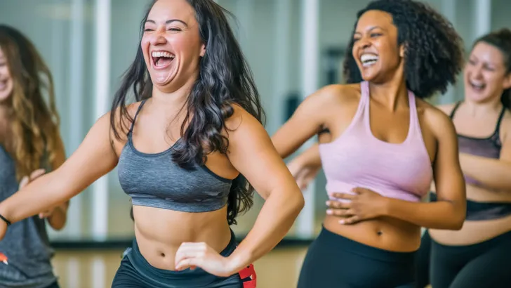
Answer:
<svg viewBox="0 0 511 288"><path fill-rule="evenodd" d="M229 256L235 273L271 251L288 233L303 208L301 194L272 193L251 231Z"/></svg>

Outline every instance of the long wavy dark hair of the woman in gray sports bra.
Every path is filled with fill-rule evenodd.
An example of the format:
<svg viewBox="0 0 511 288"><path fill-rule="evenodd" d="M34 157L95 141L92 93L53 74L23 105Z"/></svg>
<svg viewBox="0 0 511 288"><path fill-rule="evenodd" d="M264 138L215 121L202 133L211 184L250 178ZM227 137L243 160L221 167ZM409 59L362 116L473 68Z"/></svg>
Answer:
<svg viewBox="0 0 511 288"><path fill-rule="evenodd" d="M140 37L155 2L152 1L142 20ZM206 44L206 53L199 62L199 76L185 103L186 116L181 124L181 137L173 146L172 161L184 169L195 169L197 165L204 165L211 152L227 154L229 140L222 133L228 131L225 121L234 113L233 105L243 107L263 125L265 113L253 74L227 20L227 16L234 18L234 15L212 0L187 2L194 8L199 34ZM112 104L110 123L117 139L121 140L122 137L116 127L120 127L126 135L128 124L133 122L126 109L129 91L133 92L136 101L140 101L152 97L152 88L139 44L135 60L126 71ZM118 109L120 122L115 116ZM237 215L252 205L253 187L239 174L232 181L227 200L229 225L236 224Z"/></svg>

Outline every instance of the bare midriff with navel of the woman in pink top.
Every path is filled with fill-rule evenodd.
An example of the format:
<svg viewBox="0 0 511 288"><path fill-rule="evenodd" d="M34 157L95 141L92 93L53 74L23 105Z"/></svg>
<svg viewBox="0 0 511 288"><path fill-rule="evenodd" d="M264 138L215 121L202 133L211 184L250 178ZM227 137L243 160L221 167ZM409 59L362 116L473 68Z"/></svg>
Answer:
<svg viewBox="0 0 511 288"><path fill-rule="evenodd" d="M382 217L356 224L340 224L341 218L327 215L326 230L361 244L396 252L416 251L420 246L420 227L396 218Z"/></svg>

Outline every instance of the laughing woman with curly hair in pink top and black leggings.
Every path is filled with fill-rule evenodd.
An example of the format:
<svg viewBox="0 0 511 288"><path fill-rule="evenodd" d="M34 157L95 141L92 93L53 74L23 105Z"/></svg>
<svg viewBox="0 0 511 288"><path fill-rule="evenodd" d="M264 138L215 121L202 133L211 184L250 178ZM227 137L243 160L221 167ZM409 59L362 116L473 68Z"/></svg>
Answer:
<svg viewBox="0 0 511 288"><path fill-rule="evenodd" d="M320 89L273 136L281 157L321 144L335 207L310 246L298 288L413 287L420 227L458 230L465 182L449 117L425 102L456 81L461 40L429 6L373 1L357 15L346 85ZM430 183L439 201L423 203Z"/></svg>

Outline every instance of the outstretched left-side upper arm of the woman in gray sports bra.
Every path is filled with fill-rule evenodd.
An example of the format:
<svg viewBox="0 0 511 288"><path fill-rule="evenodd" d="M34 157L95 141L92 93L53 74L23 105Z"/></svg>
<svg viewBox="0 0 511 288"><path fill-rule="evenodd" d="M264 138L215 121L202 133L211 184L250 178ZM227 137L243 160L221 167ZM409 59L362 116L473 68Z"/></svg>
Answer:
<svg viewBox="0 0 511 288"><path fill-rule="evenodd" d="M110 113L100 117L84 141L64 164L53 172L66 193L77 195L117 165L110 143Z"/></svg>

